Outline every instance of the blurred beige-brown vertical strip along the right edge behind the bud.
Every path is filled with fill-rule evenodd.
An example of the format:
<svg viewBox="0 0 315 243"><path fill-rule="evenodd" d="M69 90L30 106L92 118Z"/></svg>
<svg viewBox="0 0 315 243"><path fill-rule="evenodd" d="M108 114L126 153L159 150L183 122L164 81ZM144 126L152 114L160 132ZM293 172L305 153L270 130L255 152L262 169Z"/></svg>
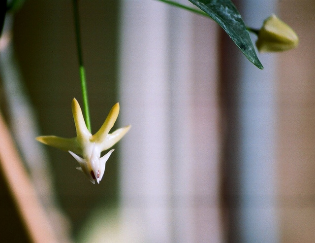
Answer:
<svg viewBox="0 0 315 243"><path fill-rule="evenodd" d="M284 243L315 242L315 2L282 0L281 17L300 37L279 54L279 205Z"/></svg>

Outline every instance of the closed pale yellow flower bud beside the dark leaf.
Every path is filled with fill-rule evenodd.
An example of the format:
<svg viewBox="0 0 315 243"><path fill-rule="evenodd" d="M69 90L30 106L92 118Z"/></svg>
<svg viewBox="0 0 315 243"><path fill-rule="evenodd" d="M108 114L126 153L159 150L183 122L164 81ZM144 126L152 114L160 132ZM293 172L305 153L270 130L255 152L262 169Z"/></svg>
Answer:
<svg viewBox="0 0 315 243"><path fill-rule="evenodd" d="M259 30L256 46L259 52L276 52L293 49L298 43L295 32L276 15L272 15Z"/></svg>

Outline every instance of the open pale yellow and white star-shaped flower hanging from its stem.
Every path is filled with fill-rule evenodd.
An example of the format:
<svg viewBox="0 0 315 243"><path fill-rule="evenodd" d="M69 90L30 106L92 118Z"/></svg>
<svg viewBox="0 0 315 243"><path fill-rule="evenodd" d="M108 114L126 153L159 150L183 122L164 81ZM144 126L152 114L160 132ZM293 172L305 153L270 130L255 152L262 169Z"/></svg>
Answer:
<svg viewBox="0 0 315 243"><path fill-rule="evenodd" d="M77 132L75 138L65 139L56 136L40 136L36 139L47 145L69 151L80 165L77 169L82 171L93 184L95 184L95 180L99 183L104 175L106 161L114 149L110 150L103 157L100 157L100 153L118 142L128 132L130 126L117 129L109 134L118 117L118 103L112 107L104 124L94 135L89 132L80 105L74 98L72 100L72 113Z"/></svg>

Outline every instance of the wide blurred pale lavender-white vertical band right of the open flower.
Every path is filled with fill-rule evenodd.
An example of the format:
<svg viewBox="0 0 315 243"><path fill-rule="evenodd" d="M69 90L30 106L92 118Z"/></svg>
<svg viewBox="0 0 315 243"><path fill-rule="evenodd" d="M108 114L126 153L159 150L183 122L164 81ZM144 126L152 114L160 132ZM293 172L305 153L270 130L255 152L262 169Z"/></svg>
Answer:
<svg viewBox="0 0 315 243"><path fill-rule="evenodd" d="M121 142L128 240L220 243L219 27L158 1L123 0L122 13L122 120L132 124Z"/></svg>

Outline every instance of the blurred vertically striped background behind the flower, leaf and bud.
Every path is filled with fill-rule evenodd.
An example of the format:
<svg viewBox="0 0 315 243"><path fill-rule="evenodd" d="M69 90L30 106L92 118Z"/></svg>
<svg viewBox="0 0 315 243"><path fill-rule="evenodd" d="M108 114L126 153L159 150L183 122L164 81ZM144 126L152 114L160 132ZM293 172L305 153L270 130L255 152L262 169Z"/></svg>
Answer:
<svg viewBox="0 0 315 243"><path fill-rule="evenodd" d="M315 241L315 3L233 2L253 28L277 13L299 46L259 54L259 70L211 19L156 0L79 1L92 131L116 102L114 129L132 128L99 185L70 154L16 139L60 242ZM82 99L72 1L26 0L7 18L20 82L6 84L1 51L0 105L13 136L25 124L12 115L21 90L34 137L74 137L71 101ZM4 178L0 239L26 242Z"/></svg>

